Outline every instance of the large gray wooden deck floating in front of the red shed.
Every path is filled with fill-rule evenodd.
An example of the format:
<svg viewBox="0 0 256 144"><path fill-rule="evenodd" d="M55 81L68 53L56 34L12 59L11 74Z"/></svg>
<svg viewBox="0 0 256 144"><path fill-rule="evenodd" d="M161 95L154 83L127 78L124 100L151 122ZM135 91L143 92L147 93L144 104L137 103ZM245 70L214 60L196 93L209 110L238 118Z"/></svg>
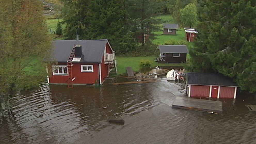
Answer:
<svg viewBox="0 0 256 144"><path fill-rule="evenodd" d="M189 97L176 97L175 101L172 104L172 107L188 110L222 113L221 101L202 100Z"/></svg>

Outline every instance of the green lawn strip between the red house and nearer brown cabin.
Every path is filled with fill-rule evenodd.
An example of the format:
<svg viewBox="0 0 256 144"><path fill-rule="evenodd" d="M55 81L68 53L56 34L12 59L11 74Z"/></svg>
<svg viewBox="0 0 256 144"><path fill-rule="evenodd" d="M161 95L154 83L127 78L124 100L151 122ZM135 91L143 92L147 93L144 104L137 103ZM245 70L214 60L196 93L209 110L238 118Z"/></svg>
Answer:
<svg viewBox="0 0 256 144"><path fill-rule="evenodd" d="M155 66L183 66L183 63L158 63L154 60L155 56L148 57L116 57L117 60L117 74L125 74L126 67L132 67L133 71L140 71L140 61L141 60L150 60L151 67Z"/></svg>

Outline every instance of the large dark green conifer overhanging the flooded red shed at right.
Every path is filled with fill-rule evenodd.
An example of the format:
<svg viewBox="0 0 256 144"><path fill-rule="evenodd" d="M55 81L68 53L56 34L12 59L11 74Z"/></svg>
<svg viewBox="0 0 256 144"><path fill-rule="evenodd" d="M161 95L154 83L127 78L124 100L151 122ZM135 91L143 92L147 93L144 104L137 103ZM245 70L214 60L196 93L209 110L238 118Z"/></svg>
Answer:
<svg viewBox="0 0 256 144"><path fill-rule="evenodd" d="M255 1L200 1L198 37L190 49L196 71L221 73L256 91Z"/></svg>

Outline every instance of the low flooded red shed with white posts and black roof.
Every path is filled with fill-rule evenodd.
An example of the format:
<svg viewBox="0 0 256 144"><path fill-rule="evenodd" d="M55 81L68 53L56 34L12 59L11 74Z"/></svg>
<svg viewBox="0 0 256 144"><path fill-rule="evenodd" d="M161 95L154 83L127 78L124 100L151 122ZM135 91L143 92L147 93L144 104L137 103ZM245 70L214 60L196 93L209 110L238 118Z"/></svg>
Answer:
<svg viewBox="0 0 256 144"><path fill-rule="evenodd" d="M186 73L188 97L236 98L237 84L220 74Z"/></svg>

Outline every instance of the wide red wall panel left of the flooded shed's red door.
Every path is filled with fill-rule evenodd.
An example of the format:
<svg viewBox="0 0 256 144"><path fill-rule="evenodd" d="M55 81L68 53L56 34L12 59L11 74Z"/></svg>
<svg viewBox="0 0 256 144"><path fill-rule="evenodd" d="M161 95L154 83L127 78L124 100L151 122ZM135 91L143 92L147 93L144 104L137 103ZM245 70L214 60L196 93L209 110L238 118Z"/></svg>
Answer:
<svg viewBox="0 0 256 144"><path fill-rule="evenodd" d="M209 97L210 86L191 85L190 97Z"/></svg>

